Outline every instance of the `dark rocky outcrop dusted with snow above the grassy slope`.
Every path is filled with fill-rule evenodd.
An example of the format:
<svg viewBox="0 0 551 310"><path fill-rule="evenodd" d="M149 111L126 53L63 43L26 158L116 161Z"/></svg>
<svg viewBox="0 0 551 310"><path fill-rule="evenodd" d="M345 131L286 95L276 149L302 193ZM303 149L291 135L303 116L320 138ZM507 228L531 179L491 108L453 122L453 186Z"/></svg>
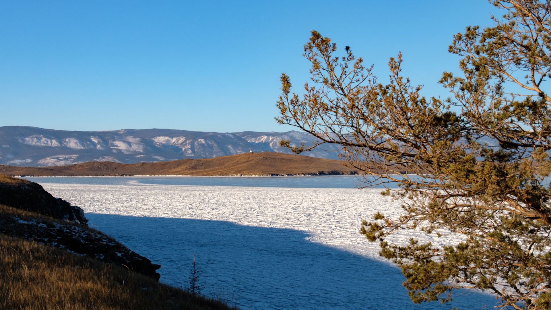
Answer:
<svg viewBox="0 0 551 310"><path fill-rule="evenodd" d="M160 265L87 227L87 222L82 209L53 197L40 184L0 175L0 233L124 266L159 281Z"/></svg>

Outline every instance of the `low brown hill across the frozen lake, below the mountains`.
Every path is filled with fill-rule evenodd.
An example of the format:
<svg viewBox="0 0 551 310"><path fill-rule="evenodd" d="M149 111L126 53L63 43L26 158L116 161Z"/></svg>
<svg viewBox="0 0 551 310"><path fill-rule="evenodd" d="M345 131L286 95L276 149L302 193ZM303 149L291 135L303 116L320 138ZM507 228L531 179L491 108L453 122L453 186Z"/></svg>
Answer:
<svg viewBox="0 0 551 310"><path fill-rule="evenodd" d="M245 153L208 159L120 164L86 162L57 167L0 165L0 174L34 177L85 175L338 175L357 174L342 161L283 153Z"/></svg>

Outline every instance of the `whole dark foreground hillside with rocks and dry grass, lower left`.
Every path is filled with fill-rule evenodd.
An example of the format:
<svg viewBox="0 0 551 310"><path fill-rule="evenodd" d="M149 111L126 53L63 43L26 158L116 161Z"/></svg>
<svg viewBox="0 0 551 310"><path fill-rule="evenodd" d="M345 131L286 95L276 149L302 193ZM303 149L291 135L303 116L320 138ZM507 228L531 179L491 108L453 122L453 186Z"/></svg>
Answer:
<svg viewBox="0 0 551 310"><path fill-rule="evenodd" d="M66 206L0 175L0 309L230 309L159 284L159 265Z"/></svg>

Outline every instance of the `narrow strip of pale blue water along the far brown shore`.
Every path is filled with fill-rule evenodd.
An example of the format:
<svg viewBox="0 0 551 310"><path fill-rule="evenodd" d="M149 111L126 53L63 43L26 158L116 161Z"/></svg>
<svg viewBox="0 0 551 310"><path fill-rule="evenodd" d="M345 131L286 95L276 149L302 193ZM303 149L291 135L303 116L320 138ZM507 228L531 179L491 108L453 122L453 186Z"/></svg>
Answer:
<svg viewBox="0 0 551 310"><path fill-rule="evenodd" d="M368 177L369 180L374 180ZM297 177L36 177L36 183L92 185L191 185L191 186L255 186L268 188L358 188L367 185L361 176L320 175ZM387 184L388 186L389 184ZM381 185L374 186L382 188Z"/></svg>

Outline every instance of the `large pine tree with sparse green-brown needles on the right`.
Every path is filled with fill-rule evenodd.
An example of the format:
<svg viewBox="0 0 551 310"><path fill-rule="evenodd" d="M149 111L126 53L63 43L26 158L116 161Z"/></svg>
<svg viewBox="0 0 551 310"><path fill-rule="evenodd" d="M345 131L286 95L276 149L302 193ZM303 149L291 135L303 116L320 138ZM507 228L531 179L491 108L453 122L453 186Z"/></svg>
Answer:
<svg viewBox="0 0 551 310"><path fill-rule="evenodd" d="M402 76L402 55L390 58L390 81L377 82L350 47L312 31L304 46L313 84L291 93L282 74L280 124L311 133L312 146L336 143L367 185L397 182L383 194L403 201L398 218L381 213L361 223L398 264L413 302L452 298L461 287L490 291L503 306L551 307L551 4L491 1L504 10L488 28L469 26L449 51L461 75L444 72L451 97L425 98ZM387 241L403 229L463 234L437 247Z"/></svg>

